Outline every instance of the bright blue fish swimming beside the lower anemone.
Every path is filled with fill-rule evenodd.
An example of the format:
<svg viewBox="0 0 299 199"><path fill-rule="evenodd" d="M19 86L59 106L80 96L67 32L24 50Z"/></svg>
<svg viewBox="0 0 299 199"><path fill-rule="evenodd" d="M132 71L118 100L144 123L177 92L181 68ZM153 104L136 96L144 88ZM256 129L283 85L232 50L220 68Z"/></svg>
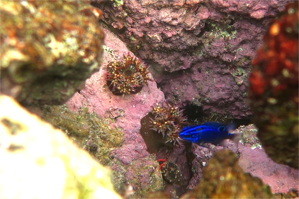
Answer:
<svg viewBox="0 0 299 199"><path fill-rule="evenodd" d="M236 127L233 123L223 124L220 122L209 121L200 125L192 125L184 127L179 136L189 142L205 146L205 143L226 146L224 140L231 139L237 141L240 138L239 133L232 134Z"/></svg>

